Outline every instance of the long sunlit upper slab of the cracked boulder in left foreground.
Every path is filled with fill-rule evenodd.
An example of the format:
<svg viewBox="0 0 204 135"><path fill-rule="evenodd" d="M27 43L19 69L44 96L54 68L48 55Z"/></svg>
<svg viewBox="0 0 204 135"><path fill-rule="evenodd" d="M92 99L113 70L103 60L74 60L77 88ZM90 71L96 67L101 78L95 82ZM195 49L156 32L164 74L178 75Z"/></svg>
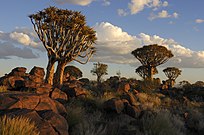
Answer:
<svg viewBox="0 0 204 135"><path fill-rule="evenodd" d="M58 113L59 104L50 97L28 92L4 92L0 93L0 108L5 109L30 109L36 111L52 110Z"/></svg>

